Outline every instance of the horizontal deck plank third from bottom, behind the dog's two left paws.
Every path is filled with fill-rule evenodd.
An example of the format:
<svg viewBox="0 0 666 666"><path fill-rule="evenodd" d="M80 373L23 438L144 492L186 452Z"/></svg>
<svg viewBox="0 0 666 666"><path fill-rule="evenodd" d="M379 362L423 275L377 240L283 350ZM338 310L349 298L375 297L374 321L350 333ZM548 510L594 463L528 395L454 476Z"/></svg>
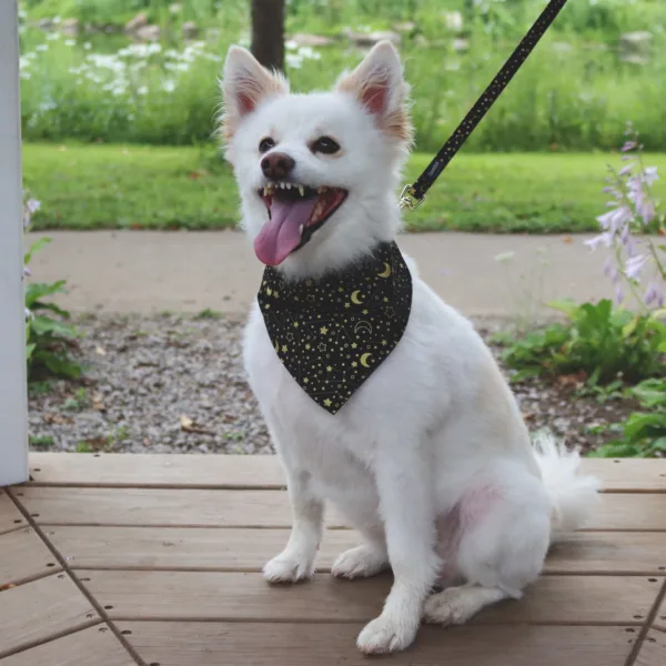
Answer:
<svg viewBox="0 0 666 666"><path fill-rule="evenodd" d="M286 544L289 529L199 527L49 527L49 538L77 568L261 571ZM329 529L317 569L361 543L347 529ZM546 572L666 574L666 533L581 532L554 546Z"/></svg>

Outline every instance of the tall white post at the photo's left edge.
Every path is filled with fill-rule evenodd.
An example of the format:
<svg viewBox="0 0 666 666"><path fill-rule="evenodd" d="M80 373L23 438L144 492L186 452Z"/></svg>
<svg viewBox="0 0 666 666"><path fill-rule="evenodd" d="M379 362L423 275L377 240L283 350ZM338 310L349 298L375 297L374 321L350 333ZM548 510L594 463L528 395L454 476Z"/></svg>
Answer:
<svg viewBox="0 0 666 666"><path fill-rule="evenodd" d="M19 20L0 0L0 486L28 481Z"/></svg>

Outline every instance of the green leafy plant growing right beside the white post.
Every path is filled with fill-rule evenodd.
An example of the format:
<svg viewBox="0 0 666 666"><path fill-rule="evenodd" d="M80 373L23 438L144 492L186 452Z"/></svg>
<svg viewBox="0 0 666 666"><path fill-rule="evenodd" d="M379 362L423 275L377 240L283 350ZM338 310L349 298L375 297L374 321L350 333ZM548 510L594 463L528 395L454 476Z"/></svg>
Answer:
<svg viewBox="0 0 666 666"><path fill-rule="evenodd" d="M31 215L39 210L39 202L29 199L23 206L23 228L29 229ZM36 252L50 242L42 238L30 246L23 256L26 275L30 275L28 264ZM64 291L64 280L58 282L30 282L26 285L26 359L28 380L43 379L46 375L75 379L81 374L81 365L71 356L78 335L74 326L68 323L70 313L56 303L46 300Z"/></svg>

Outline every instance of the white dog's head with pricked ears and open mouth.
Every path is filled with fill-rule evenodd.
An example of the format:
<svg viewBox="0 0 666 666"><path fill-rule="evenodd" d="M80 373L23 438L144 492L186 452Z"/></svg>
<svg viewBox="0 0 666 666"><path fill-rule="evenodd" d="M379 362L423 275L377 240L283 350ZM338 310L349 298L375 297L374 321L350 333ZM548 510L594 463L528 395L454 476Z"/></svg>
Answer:
<svg viewBox="0 0 666 666"><path fill-rule="evenodd" d="M392 240L411 144L407 87L395 49L377 44L331 92L293 94L232 47L222 133L258 258L314 276Z"/></svg>

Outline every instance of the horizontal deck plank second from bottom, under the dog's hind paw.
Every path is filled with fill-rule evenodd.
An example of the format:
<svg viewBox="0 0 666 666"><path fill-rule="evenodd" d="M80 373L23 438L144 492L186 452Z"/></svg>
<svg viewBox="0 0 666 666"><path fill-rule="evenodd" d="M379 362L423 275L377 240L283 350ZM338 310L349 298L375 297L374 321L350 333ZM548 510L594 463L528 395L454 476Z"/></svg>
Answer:
<svg viewBox="0 0 666 666"><path fill-rule="evenodd" d="M85 572L84 583L111 619L366 622L380 614L392 577L271 586L260 574ZM656 582L658 581L658 582ZM482 612L481 624L636 624L647 617L660 579L544 576L519 602Z"/></svg>

